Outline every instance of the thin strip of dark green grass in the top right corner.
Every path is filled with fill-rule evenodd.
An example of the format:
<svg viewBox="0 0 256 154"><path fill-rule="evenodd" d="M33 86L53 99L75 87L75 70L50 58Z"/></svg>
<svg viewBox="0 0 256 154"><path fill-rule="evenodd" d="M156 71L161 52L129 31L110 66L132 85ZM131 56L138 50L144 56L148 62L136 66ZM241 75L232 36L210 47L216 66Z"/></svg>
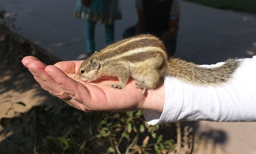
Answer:
<svg viewBox="0 0 256 154"><path fill-rule="evenodd" d="M256 14L256 0L185 0L218 9L239 10Z"/></svg>

